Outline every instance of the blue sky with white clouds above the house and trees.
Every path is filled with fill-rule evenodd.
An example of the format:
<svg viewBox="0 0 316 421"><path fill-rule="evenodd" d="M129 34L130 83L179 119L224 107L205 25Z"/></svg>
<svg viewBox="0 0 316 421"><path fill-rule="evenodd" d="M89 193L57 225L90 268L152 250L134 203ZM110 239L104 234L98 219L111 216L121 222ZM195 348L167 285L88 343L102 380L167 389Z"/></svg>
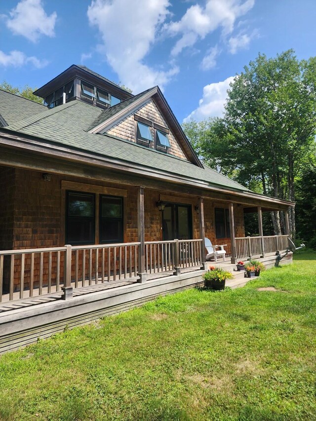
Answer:
<svg viewBox="0 0 316 421"><path fill-rule="evenodd" d="M315 56L315 22L316 0L0 0L0 83L39 88L83 64L201 120L259 52Z"/></svg>

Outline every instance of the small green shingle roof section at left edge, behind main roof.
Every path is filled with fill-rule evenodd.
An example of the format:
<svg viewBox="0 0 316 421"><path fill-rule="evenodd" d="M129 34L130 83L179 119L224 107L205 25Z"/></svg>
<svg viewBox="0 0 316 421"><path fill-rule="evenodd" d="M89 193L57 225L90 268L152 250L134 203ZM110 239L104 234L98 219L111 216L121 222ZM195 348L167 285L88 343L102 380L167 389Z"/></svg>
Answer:
<svg viewBox="0 0 316 421"><path fill-rule="evenodd" d="M44 110L42 104L0 89L0 115L9 125Z"/></svg>

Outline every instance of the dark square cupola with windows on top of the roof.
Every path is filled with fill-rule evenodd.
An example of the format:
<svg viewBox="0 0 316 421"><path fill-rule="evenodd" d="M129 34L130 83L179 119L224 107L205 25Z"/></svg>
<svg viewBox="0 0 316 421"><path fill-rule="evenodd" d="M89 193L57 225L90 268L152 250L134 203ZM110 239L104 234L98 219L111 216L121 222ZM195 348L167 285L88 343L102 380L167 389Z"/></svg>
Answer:
<svg viewBox="0 0 316 421"><path fill-rule="evenodd" d="M133 95L85 66L73 64L34 92L48 108L72 100L107 109Z"/></svg>

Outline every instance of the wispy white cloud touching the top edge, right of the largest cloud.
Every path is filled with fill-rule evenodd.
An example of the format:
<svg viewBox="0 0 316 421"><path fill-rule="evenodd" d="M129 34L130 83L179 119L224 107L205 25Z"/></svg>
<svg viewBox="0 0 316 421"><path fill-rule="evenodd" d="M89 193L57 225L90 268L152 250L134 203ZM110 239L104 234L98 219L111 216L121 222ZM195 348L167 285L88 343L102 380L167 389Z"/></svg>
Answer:
<svg viewBox="0 0 316 421"><path fill-rule="evenodd" d="M254 5L255 0L207 0L205 7L195 4L189 7L182 18L177 22L165 25L169 35L178 39L171 54L179 54L184 48L193 46L198 39L218 28L227 36L234 30L234 24L239 16L247 13Z"/></svg>

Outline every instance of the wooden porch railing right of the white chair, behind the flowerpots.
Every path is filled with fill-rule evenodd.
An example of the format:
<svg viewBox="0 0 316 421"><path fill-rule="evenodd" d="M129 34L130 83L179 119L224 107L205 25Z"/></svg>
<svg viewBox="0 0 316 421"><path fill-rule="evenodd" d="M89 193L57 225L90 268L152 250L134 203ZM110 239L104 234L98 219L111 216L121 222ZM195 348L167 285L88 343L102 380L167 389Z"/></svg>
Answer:
<svg viewBox="0 0 316 421"><path fill-rule="evenodd" d="M257 237L237 237L236 258L246 259L260 257L276 251L284 251L288 247L287 235L270 235Z"/></svg>

